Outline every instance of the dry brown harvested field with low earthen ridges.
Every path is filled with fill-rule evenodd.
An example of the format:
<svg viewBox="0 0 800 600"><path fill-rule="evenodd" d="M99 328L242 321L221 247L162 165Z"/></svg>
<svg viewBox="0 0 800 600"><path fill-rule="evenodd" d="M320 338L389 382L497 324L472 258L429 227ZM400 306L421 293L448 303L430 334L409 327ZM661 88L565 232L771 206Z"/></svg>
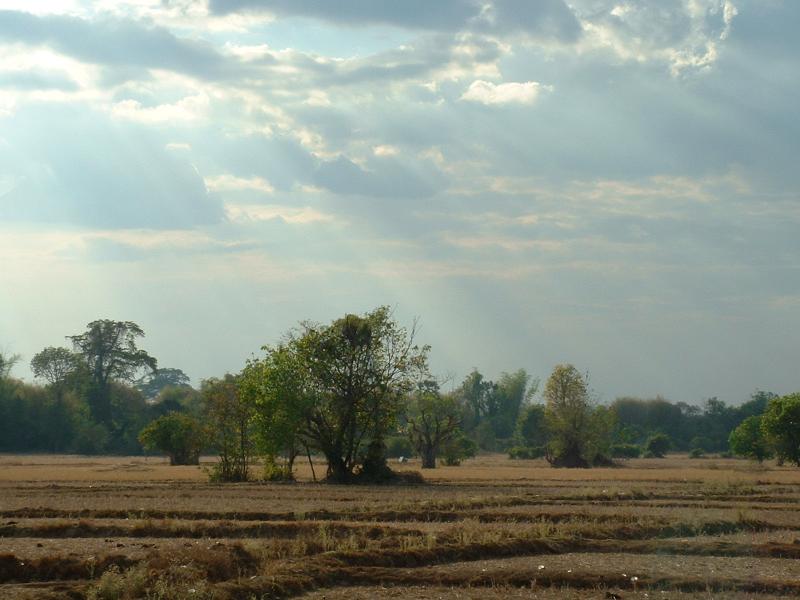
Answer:
<svg viewBox="0 0 800 600"><path fill-rule="evenodd" d="M0 598L800 596L797 468L490 456L424 476L216 485L154 458L0 456Z"/></svg>

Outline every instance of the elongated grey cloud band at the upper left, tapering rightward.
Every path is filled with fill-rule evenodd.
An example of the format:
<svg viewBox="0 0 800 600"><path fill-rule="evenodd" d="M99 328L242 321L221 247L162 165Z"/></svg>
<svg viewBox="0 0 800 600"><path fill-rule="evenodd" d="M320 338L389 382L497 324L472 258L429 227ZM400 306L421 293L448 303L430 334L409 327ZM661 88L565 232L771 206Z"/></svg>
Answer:
<svg viewBox="0 0 800 600"><path fill-rule="evenodd" d="M209 79L234 76L239 66L206 42L181 39L161 27L126 20L88 21L3 10L0 41L49 46L93 64L166 69Z"/></svg>

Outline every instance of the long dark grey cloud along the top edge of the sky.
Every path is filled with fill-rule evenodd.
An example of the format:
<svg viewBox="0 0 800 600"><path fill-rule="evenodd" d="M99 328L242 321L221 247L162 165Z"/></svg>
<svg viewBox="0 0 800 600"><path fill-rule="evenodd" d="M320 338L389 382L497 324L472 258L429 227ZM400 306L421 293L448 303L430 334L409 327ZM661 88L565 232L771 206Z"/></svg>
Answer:
<svg viewBox="0 0 800 600"><path fill-rule="evenodd" d="M344 26L384 25L428 31L524 32L574 41L581 26L563 0L211 0L217 14L265 11Z"/></svg>

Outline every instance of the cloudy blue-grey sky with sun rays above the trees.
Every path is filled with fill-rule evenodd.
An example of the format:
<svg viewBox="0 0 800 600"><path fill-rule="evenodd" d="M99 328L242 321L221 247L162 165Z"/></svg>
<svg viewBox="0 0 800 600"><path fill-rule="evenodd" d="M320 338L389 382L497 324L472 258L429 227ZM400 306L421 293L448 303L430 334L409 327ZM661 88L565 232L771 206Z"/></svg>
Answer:
<svg viewBox="0 0 800 600"><path fill-rule="evenodd" d="M0 349L237 372L418 319L458 382L800 389L800 2L0 0Z"/></svg>

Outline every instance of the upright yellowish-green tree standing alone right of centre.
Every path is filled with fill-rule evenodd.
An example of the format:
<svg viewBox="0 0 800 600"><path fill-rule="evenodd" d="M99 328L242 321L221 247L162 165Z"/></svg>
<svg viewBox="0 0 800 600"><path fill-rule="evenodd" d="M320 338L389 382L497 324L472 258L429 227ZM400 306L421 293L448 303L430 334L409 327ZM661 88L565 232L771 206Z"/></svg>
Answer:
<svg viewBox="0 0 800 600"><path fill-rule="evenodd" d="M574 366L562 364L553 369L544 400L550 464L588 467L608 460L614 415L604 407L594 407L586 379Z"/></svg>

